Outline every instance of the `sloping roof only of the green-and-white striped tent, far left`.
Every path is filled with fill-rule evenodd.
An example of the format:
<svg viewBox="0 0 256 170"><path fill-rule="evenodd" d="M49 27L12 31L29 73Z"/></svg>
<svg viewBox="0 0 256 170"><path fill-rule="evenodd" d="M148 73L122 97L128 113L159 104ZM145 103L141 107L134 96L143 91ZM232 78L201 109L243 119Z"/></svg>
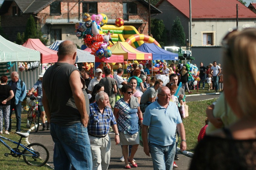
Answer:
<svg viewBox="0 0 256 170"><path fill-rule="evenodd" d="M0 35L0 62L40 61L40 52L6 40Z"/></svg>

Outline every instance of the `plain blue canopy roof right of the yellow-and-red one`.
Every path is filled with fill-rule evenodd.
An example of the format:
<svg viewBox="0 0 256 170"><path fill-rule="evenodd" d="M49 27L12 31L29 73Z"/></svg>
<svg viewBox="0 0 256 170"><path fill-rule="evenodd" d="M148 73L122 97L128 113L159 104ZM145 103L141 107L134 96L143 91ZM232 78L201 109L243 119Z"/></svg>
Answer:
<svg viewBox="0 0 256 170"><path fill-rule="evenodd" d="M178 60L178 54L166 51L154 43L143 43L136 49L139 51L152 53L153 60Z"/></svg>

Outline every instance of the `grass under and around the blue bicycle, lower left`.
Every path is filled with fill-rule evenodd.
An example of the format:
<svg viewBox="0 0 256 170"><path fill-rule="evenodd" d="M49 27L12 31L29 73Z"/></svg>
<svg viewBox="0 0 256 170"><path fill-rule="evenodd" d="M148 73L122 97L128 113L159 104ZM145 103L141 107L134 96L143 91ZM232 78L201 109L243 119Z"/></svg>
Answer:
<svg viewBox="0 0 256 170"><path fill-rule="evenodd" d="M25 133L27 132L28 128L26 127L26 113L22 113L21 114L21 132ZM2 134L2 136L5 136L9 139L12 139L16 142L19 141L20 136L15 134L15 129L16 129L16 118L15 118L15 112L13 112L12 114L12 132L9 135L6 134ZM4 132L4 129L3 129ZM11 148L15 148L17 147L17 145L14 145L13 143L4 140ZM26 144L25 138L23 138L22 144ZM8 150L8 148L6 148L4 145L2 145L0 143L1 147L0 147L0 169L19 169L19 170L46 170L46 169L51 169L50 167L44 165L42 167L37 167L37 166L29 166L27 165L24 160L23 157L20 157L20 160L17 159L16 157L12 157L11 155L9 155L8 157L5 157L4 154L5 153L10 153L10 151ZM23 148L22 148L23 150Z"/></svg>

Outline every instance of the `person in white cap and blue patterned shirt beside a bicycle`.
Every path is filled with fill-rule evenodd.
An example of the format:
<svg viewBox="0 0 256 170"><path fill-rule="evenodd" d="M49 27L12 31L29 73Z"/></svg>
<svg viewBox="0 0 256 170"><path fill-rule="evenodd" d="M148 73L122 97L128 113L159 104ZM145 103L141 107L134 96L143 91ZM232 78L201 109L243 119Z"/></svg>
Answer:
<svg viewBox="0 0 256 170"><path fill-rule="evenodd" d="M50 122L47 121L47 125L45 124L45 111L44 111L44 106L43 106L43 103L42 103L42 96L43 96L42 80L43 80L43 76L44 76L44 73L41 73L41 75L38 75L39 79L34 84L34 86L31 88L28 95L32 95L32 93L35 91L35 89L37 89L38 96L41 97L41 98L38 98L38 110L41 113L40 118L41 118L41 121L43 122L42 130L50 130Z"/></svg>

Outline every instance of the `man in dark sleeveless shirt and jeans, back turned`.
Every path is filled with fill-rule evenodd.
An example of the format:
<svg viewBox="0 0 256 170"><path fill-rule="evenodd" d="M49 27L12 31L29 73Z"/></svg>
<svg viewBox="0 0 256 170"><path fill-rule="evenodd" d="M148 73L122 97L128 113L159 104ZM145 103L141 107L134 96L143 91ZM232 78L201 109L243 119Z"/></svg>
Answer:
<svg viewBox="0 0 256 170"><path fill-rule="evenodd" d="M44 73L42 102L53 138L55 169L92 169L87 132L89 99L85 82L74 66L77 47L72 41L59 45L58 61Z"/></svg>

